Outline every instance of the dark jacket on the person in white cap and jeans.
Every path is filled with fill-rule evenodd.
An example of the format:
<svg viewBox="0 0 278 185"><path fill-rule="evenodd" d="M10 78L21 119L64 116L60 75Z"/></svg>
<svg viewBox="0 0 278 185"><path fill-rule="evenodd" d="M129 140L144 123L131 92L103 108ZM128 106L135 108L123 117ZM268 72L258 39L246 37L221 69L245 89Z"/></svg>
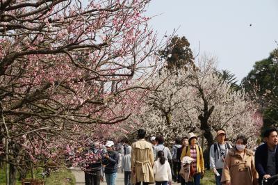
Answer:
<svg viewBox="0 0 278 185"><path fill-rule="evenodd" d="M117 163L119 160L119 154L115 151L108 152L109 158L103 158L102 163L105 166L104 172L107 174L111 174L117 172Z"/></svg>

